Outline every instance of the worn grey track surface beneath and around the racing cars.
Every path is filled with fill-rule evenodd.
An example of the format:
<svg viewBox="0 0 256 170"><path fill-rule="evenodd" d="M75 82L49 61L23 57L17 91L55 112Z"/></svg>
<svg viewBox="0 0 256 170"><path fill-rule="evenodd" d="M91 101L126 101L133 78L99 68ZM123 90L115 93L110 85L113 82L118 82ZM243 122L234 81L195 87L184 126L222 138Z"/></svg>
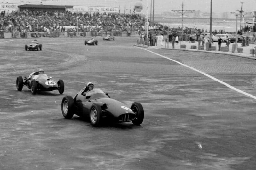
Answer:
<svg viewBox="0 0 256 170"><path fill-rule="evenodd" d="M25 51L32 39L0 39L0 169L255 168L256 60L151 53L133 46L136 37L96 39L98 46L85 46L85 38L37 39L42 51ZM39 68L64 81L62 95L17 91L17 76ZM62 98L88 81L129 106L142 103L143 123L93 127L78 116L64 119Z"/></svg>

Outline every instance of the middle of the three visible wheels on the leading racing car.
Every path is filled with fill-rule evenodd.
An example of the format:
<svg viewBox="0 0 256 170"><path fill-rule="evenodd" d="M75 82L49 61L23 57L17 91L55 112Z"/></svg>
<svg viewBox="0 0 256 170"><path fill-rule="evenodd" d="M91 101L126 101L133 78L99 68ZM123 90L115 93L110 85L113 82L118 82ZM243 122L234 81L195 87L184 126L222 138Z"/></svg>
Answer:
<svg viewBox="0 0 256 170"><path fill-rule="evenodd" d="M90 121L93 126L100 126L102 121L102 110L97 104L92 104L90 110Z"/></svg>

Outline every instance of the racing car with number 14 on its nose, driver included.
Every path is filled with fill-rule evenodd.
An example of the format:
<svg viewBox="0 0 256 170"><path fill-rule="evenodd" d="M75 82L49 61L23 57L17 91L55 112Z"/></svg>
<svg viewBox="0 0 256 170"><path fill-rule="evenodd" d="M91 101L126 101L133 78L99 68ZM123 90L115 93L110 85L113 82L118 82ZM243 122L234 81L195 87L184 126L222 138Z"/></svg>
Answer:
<svg viewBox="0 0 256 170"><path fill-rule="evenodd" d="M27 78L26 76L18 76L16 79L16 87L18 91L21 91L23 86L27 86L31 89L32 94L36 94L37 91L52 91L58 90L60 94L64 92L63 80L52 80L52 77L48 77L46 74L39 74L33 72Z"/></svg>

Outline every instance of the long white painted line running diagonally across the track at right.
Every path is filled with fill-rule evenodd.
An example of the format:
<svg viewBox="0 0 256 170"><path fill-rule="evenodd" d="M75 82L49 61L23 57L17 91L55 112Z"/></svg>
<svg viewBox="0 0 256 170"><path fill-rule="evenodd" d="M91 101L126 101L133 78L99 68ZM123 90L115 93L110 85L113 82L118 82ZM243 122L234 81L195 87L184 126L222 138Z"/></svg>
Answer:
<svg viewBox="0 0 256 170"><path fill-rule="evenodd" d="M204 72L202 72L202 71L200 71L200 70L197 70L196 68L190 67L190 66L188 66L188 65L186 65L186 64L183 64L183 63L181 63L181 62L179 62L179 61L170 59L170 58L165 57L165 56L163 56L163 55L161 55L161 54L158 54L158 53L155 53L155 52L153 52L153 51L147 50L147 49L145 49L145 48L140 48L140 49L146 50L146 51L148 51L148 52L150 52L150 53L156 54L156 55L158 55L158 56L160 56L160 57L163 57L163 58L165 58L165 59L168 59L168 60L171 60L171 61L173 61L173 62L176 62L176 63L178 63L178 64L180 64L180 65L182 65L182 66L188 67L188 68L190 68L190 69L192 69L192 70L194 70L194 71L196 71L196 72L198 72L198 73L204 74L205 76L211 78L211 79L214 80L214 81L217 81L217 82L219 82L219 83L221 83L221 84L227 86L227 87L230 88L230 89L233 89L233 90L237 91L238 93L242 93L242 94L244 94L244 95L246 95L246 96L249 96L249 97L252 97L253 99L256 99L256 96L253 96L253 95L251 95L251 94L249 94L249 93L246 93L246 92L244 92L244 91L242 91L242 90L239 90L239 89L237 89L237 88L235 88L235 87L229 85L228 83L225 83L224 81L221 81L221 80L219 80L219 79L216 79L215 77L212 77L212 76L209 75L209 74L206 74L206 73L204 73Z"/></svg>

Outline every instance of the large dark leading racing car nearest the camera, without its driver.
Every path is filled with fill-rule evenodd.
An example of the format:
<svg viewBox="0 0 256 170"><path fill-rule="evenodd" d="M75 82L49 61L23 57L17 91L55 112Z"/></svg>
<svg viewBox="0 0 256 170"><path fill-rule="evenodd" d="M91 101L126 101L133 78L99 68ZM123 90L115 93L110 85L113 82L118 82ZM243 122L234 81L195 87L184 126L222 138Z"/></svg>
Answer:
<svg viewBox="0 0 256 170"><path fill-rule="evenodd" d="M129 108L124 103L111 99L108 93L93 89L82 95L81 89L74 97L65 96L61 102L62 115L71 119L74 114L87 117L93 126L100 126L103 121L122 123L132 121L140 125L144 119L144 110L140 103L134 102Z"/></svg>

